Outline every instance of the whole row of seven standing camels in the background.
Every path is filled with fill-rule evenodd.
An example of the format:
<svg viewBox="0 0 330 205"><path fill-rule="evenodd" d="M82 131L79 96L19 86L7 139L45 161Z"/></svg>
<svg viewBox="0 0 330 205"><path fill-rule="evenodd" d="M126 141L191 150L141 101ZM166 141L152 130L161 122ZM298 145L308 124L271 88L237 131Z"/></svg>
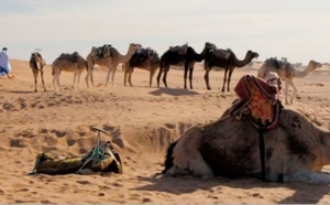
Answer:
<svg viewBox="0 0 330 205"><path fill-rule="evenodd" d="M188 43L184 45L175 45L169 46L167 51L160 57L158 53L151 47L142 47L141 44L131 43L127 51L127 54L123 55L119 53L119 51L110 44L105 44L102 46L92 46L90 53L86 58L79 55L78 52L74 52L73 54L61 54L52 64L53 68L53 86L56 90L56 85L61 89L59 84L59 74L62 71L74 73L74 84L73 88L79 88L80 75L84 71L87 72L85 82L87 88L89 88L89 82L95 87L94 80L94 71L95 66L102 66L108 68L108 73L106 76L105 86L107 87L109 80L111 78L111 86L114 85L114 76L117 72L117 67L119 64L122 64L122 68L124 72L124 86L129 83L130 86L132 84L132 73L134 68L140 68L150 72L150 87L152 87L152 82L155 73L158 69L158 74L156 77L157 87L161 87L161 78L164 83L164 86L167 87L167 75L170 66L180 66L184 67L184 88L187 89L187 78L189 79L189 88L193 89L193 74L194 66L197 62L204 61L205 68L205 83L206 88L211 89L209 73L212 67L218 67L224 71L224 76L222 80L222 89L221 91L230 91L230 82L233 74L234 68L241 68L245 65L250 64L254 58L258 57L258 53L249 50L243 60L239 60L234 52L230 48L223 50L218 48L216 44L206 42L205 47L200 53L197 53ZM37 84L37 75L41 72L41 78L44 86L43 79L43 66L45 63L43 62L40 53L32 53L30 60L30 66L32 68L35 82L35 91ZM35 63L38 62L38 63ZM307 68L302 72L295 68L295 66L288 62L282 62L274 57L271 57L264 62L261 68L257 71L257 77L265 78L266 74L270 72L275 72L279 77L286 82L285 84L285 95L286 100L285 104L293 104L294 98L297 94L297 88L293 83L294 77L305 77L310 72L316 68L321 67L322 65L314 60L311 60L307 66ZM100 84L99 84L100 85ZM227 88L226 88L227 86ZM288 100L288 87L292 86L294 88L294 94ZM44 86L44 90L45 86Z"/></svg>

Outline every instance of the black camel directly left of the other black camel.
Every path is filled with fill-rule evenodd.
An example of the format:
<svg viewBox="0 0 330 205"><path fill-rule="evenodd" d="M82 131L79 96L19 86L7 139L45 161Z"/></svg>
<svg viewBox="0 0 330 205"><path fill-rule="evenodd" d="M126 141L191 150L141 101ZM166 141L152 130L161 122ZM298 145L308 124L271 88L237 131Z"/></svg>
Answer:
<svg viewBox="0 0 330 205"><path fill-rule="evenodd" d="M163 83L165 87L167 87L167 73L169 71L170 66L185 66L185 88L187 89L187 74L189 71L189 83L190 83L190 89L193 89L193 72L194 72L194 65L196 62L201 62L204 60L204 55L198 54L195 52L195 50L191 46L188 46L187 44L183 46L175 46L169 47L162 56L161 56L161 67L157 76L157 86L160 87L160 80L162 77L162 74L164 72L163 76Z"/></svg>

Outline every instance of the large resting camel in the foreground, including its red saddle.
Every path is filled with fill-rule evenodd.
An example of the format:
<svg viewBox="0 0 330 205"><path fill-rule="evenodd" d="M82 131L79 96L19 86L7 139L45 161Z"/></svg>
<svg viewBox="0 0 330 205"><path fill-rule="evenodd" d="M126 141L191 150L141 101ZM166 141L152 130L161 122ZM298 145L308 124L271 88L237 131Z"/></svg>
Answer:
<svg viewBox="0 0 330 205"><path fill-rule="evenodd" d="M330 183L330 174L321 172L330 164L330 131L282 108L278 83L278 76L268 78L270 86L244 76L233 107L215 122L191 127L169 145L163 173Z"/></svg>

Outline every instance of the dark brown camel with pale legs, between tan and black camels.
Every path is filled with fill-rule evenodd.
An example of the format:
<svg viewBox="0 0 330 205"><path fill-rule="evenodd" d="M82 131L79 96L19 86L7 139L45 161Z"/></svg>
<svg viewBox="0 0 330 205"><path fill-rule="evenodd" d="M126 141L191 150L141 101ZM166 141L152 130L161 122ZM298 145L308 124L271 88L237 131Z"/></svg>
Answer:
<svg viewBox="0 0 330 205"><path fill-rule="evenodd" d="M134 67L145 69L150 72L150 87L153 83L153 76L160 67L160 56L156 51L147 47L135 50L130 62L124 64L124 85L127 86L127 79L129 77L129 84L132 85L132 73Z"/></svg>

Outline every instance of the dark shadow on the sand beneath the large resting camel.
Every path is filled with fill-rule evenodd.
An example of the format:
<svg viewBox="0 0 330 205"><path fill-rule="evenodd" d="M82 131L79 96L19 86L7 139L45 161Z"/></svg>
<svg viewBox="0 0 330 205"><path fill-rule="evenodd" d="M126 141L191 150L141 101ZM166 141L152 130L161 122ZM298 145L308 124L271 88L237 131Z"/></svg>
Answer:
<svg viewBox="0 0 330 205"><path fill-rule="evenodd" d="M219 186L227 186L240 190L288 188L295 191L295 193L292 196L276 202L278 204L317 204L320 202L320 199L322 199L324 195L328 195L330 192L329 184L308 184L302 182L271 183L263 182L257 177L227 179L218 176L211 180L202 180L193 176L172 177L162 175L151 177L139 177L139 180L147 181L152 184L138 187L136 190L157 191L175 195L189 194L198 190L211 191L212 193L217 193L217 191L213 192L212 188L219 188ZM312 192L310 192L311 190ZM260 196L262 196L262 194L256 193L256 197Z"/></svg>

